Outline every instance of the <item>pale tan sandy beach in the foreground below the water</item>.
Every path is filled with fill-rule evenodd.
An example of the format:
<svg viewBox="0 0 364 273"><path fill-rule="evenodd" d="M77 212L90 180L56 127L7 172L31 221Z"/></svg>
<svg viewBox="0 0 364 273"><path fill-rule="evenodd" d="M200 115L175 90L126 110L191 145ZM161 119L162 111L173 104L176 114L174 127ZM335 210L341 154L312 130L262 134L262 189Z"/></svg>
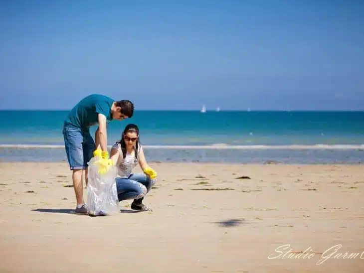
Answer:
<svg viewBox="0 0 364 273"><path fill-rule="evenodd" d="M152 213L89 217L66 163L0 163L0 272L364 272L362 165L151 165Z"/></svg>

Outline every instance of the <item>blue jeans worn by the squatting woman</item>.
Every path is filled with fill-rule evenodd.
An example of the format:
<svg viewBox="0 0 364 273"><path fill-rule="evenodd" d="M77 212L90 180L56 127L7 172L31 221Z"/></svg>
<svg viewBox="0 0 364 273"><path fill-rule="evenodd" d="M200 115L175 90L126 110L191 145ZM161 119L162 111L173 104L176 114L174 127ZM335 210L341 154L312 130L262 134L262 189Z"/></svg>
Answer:
<svg viewBox="0 0 364 273"><path fill-rule="evenodd" d="M128 178L116 178L119 202L128 199L142 199L156 183L144 173L131 174Z"/></svg>

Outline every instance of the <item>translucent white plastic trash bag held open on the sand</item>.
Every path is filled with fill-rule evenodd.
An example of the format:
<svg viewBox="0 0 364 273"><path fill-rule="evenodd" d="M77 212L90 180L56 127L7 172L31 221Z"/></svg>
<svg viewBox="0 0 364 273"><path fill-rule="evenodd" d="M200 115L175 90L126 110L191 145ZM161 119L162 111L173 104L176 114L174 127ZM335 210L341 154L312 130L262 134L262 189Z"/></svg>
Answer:
<svg viewBox="0 0 364 273"><path fill-rule="evenodd" d="M115 178L117 168L110 166L105 174L98 172L99 166L93 157L88 162L87 213L91 216L106 216L118 211L119 199Z"/></svg>

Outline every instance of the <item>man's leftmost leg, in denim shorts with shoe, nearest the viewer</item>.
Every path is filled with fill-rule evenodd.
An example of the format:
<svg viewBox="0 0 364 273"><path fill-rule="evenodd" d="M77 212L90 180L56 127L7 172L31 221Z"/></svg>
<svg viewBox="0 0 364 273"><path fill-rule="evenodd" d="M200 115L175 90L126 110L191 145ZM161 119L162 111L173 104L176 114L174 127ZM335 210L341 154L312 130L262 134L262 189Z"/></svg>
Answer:
<svg viewBox="0 0 364 273"><path fill-rule="evenodd" d="M82 186L82 170L84 169L82 133L77 128L65 128L63 130L63 137L68 163L72 170L72 182L77 201L76 212L87 213L83 200Z"/></svg>

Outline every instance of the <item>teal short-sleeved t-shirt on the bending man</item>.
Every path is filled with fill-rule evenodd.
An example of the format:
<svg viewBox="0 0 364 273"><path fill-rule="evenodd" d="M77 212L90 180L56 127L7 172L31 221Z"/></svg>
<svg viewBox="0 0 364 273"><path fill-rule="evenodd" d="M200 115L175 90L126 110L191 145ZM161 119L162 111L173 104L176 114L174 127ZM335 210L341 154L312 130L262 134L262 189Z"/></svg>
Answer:
<svg viewBox="0 0 364 273"><path fill-rule="evenodd" d="M83 98L68 114L65 125L87 130L90 126L99 123L99 113L103 114L107 121L112 121L111 106L114 100L99 94L92 94Z"/></svg>

